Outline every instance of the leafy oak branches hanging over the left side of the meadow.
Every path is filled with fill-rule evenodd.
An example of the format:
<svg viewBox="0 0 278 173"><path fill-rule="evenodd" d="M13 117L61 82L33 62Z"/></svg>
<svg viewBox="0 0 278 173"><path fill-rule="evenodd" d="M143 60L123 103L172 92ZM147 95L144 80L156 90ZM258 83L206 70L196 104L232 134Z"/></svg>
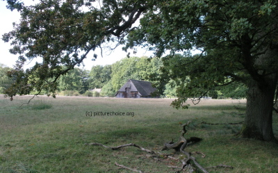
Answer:
<svg viewBox="0 0 278 173"><path fill-rule="evenodd" d="M2 38L13 45L10 53L19 54L17 66L9 73L17 81L6 94L13 97L43 89L55 93L60 75L80 65L101 44L124 38L146 9L145 1L103 1L100 8L92 3L56 0L17 8L22 16L20 23ZM42 63L24 71L26 60L37 57L43 59Z"/></svg>

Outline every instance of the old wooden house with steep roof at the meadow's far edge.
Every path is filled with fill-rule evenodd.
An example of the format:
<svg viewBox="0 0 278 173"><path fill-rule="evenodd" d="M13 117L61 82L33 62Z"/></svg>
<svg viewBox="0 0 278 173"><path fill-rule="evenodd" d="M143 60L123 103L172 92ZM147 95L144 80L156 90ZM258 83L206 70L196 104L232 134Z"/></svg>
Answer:
<svg viewBox="0 0 278 173"><path fill-rule="evenodd" d="M156 88L152 87L152 83L148 81L138 81L129 79L120 90L117 91L117 98L151 98Z"/></svg>

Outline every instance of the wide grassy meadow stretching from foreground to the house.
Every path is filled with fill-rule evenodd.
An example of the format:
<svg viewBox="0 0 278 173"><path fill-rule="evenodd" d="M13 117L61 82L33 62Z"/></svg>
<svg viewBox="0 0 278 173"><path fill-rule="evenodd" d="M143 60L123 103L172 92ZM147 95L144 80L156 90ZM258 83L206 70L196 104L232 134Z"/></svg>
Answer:
<svg viewBox="0 0 278 173"><path fill-rule="evenodd" d="M164 142L178 140L179 123L188 120L192 123L186 136L203 140L186 151L204 153L204 158L193 155L203 167L234 167L209 172L278 172L277 145L236 138L240 124L201 124L242 122L245 100L203 100L188 110L176 110L170 107L172 99L39 96L24 104L28 99L31 96L10 101L0 95L0 172L132 172L119 169L115 162L144 172L176 172L168 166L180 167L180 161L157 160L136 147L111 150L85 144L112 147L132 142L161 151ZM94 113L113 112L130 115L94 117ZM277 115L273 122L278 135ZM161 153L184 157L172 150Z"/></svg>

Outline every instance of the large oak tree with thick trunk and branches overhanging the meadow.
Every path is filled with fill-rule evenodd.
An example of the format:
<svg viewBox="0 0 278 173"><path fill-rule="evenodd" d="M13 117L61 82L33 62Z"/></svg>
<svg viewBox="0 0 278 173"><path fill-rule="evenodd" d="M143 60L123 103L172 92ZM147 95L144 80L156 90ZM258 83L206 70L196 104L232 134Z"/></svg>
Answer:
<svg viewBox="0 0 278 173"><path fill-rule="evenodd" d="M179 83L179 99L173 106L184 106L188 97L200 96L215 86L244 83L247 110L240 134L276 141L272 106L278 77L277 3L44 0L35 6L15 6L21 11L21 22L3 35L3 40L11 41L14 47L10 52L20 56L9 73L17 81L6 93L13 97L44 88L55 92L60 75L107 42L125 44L125 49L148 47L158 57L170 51L163 77ZM140 25L133 26L140 17ZM202 53L191 56L191 49ZM43 63L22 69L26 59L38 57Z"/></svg>

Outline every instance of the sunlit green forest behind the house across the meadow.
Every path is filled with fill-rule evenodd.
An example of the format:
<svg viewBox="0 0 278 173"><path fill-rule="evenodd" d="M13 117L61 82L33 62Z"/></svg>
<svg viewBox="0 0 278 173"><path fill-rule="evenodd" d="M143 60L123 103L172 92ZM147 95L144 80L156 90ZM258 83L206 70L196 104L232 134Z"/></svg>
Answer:
<svg viewBox="0 0 278 173"><path fill-rule="evenodd" d="M9 79L6 73L10 67L0 64L0 93L8 88L13 79ZM65 96L87 96L87 97L114 97L117 90L126 83L128 79L150 81L154 87L161 92L161 97L177 97L179 90L177 81L167 78L161 82L163 74L163 58L130 57L123 58L112 65L96 65L86 70L74 68L68 74L58 79L58 95ZM94 91L101 88L101 92ZM221 88L209 90L206 97L212 99L242 99L246 97L246 86L241 83L231 83ZM35 94L33 91L32 94ZM47 90L41 94L48 94Z"/></svg>

